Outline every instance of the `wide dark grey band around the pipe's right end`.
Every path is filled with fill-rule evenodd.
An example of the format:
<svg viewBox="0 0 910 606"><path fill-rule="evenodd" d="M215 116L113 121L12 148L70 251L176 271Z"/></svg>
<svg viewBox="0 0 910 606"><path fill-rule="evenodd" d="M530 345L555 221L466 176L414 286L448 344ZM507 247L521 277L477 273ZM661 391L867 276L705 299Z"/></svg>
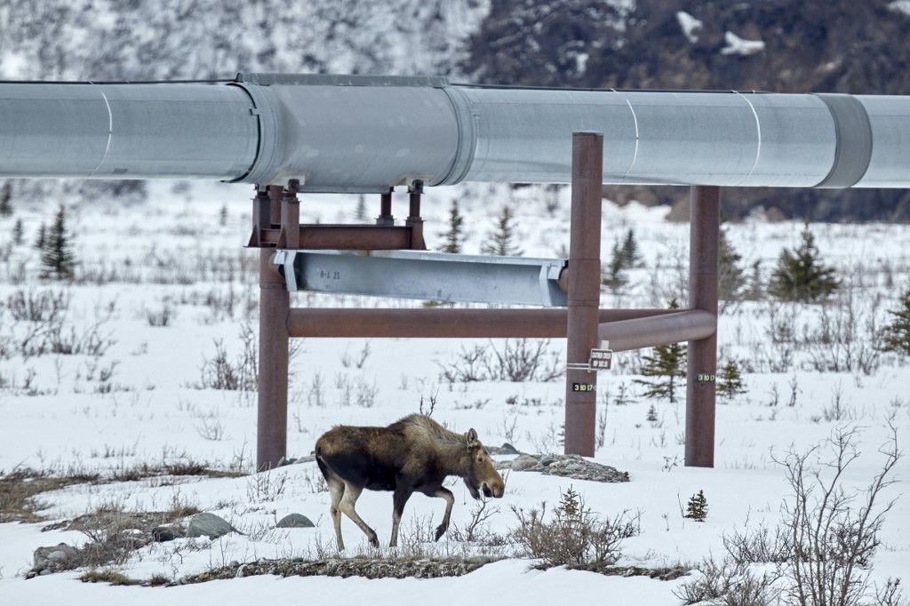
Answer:
<svg viewBox="0 0 910 606"><path fill-rule="evenodd" d="M827 176L814 187L853 187L869 169L872 160L872 125L865 107L852 95L816 94L834 118L834 163Z"/></svg>

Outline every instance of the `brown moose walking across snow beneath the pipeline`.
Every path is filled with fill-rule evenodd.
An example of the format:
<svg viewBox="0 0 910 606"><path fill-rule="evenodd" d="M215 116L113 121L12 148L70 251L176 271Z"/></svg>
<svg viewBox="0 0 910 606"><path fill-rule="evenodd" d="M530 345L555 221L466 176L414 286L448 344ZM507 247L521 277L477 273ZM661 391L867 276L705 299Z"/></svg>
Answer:
<svg viewBox="0 0 910 606"><path fill-rule="evenodd" d="M364 490L391 490L392 534L389 547L398 545L399 522L405 503L414 492L446 501L446 511L436 529L436 540L449 529L455 497L442 482L460 476L474 499L480 492L501 499L505 491L502 476L490 454L477 438L477 431L465 434L445 429L425 415L412 414L388 427L339 425L316 440L316 462L329 485L329 513L335 525L338 549L341 514L344 513L379 547L376 531L360 519L354 505Z"/></svg>

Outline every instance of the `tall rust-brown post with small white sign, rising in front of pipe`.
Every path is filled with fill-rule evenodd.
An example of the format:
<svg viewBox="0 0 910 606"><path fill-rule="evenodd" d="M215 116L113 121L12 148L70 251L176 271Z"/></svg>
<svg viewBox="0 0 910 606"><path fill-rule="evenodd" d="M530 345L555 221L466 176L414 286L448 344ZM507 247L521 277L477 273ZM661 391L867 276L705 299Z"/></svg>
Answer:
<svg viewBox="0 0 910 606"><path fill-rule="evenodd" d="M571 236L567 321L565 452L594 456L597 373L571 369L585 364L598 345L601 302L601 213L603 135L573 133L571 145Z"/></svg>

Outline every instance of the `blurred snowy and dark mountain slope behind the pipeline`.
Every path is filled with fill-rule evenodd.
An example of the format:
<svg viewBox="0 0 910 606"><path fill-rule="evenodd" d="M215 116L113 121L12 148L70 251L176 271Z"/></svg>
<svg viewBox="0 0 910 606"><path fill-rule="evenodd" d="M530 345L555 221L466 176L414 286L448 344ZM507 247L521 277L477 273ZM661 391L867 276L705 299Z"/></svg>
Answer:
<svg viewBox="0 0 910 606"><path fill-rule="evenodd" d="M7 0L0 77L216 78L246 70L908 95L907 31L908 0ZM681 188L611 195L685 204ZM725 190L728 217L754 207L814 220L906 221L910 192Z"/></svg>

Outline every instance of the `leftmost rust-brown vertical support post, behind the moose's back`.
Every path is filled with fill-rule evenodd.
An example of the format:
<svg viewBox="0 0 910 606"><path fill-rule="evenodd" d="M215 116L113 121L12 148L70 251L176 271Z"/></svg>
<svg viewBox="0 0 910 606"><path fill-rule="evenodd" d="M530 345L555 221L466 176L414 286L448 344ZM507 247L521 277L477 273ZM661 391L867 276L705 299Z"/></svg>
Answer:
<svg viewBox="0 0 910 606"><path fill-rule="evenodd" d="M269 187L280 207L282 187ZM288 449L288 314L290 293L272 263L270 248L259 250L259 400L256 467L268 470Z"/></svg>

